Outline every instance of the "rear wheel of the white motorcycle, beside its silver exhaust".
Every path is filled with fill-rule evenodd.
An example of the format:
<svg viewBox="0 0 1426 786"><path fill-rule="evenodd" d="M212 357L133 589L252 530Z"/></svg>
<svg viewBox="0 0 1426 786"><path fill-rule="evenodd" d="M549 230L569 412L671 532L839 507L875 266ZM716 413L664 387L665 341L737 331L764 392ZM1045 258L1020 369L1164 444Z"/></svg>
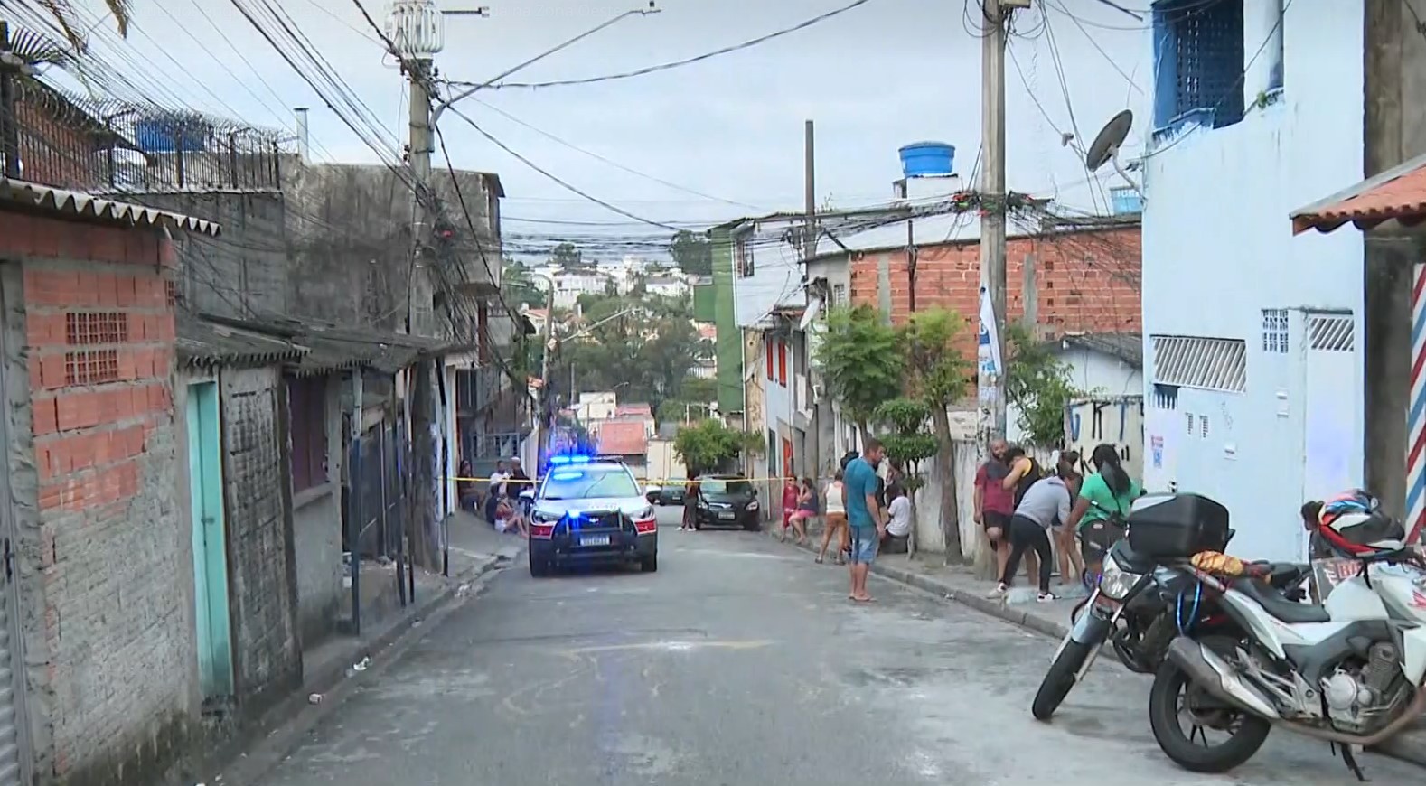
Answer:
<svg viewBox="0 0 1426 786"><path fill-rule="evenodd" d="M1231 639L1205 643L1215 652L1232 652L1233 648ZM1189 772L1224 773L1258 753L1272 723L1251 712L1218 709L1221 702L1216 700L1211 702L1212 708L1194 708L1195 700L1204 696L1204 689L1194 685L1186 672L1165 659L1149 689L1149 728L1159 750L1178 766ZM1188 715L1192 723L1186 733L1182 715ZM1228 740L1209 745L1208 732L1226 732Z"/></svg>

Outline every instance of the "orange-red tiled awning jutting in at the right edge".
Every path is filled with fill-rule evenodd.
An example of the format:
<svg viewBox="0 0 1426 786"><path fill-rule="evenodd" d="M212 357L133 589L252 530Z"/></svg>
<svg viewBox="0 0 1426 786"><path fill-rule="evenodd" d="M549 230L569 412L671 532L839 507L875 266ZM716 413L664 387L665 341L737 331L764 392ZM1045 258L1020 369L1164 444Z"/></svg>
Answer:
<svg viewBox="0 0 1426 786"><path fill-rule="evenodd" d="M1289 218L1292 234L1330 233L1346 223L1370 230L1393 218L1407 227L1420 224L1426 221L1426 155L1298 208Z"/></svg>

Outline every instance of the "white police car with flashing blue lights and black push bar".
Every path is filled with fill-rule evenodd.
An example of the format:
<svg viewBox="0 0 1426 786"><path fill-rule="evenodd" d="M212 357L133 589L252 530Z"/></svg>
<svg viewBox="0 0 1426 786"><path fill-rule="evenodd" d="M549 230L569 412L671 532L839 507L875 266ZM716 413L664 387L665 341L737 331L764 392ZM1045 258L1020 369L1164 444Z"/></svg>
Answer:
<svg viewBox="0 0 1426 786"><path fill-rule="evenodd" d="M552 456L530 501L530 575L572 565L659 569L659 521L622 461Z"/></svg>

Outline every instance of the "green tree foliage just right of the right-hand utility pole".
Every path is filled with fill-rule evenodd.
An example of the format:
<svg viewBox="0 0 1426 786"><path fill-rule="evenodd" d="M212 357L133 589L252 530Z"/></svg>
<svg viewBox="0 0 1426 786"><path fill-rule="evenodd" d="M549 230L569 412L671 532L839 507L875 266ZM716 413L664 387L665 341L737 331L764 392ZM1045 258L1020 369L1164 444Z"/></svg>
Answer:
<svg viewBox="0 0 1426 786"><path fill-rule="evenodd" d="M1060 448L1065 439L1065 407L1074 398L1070 367L1054 355L1051 345L1037 341L1022 325L1005 331L1005 401L1020 411L1017 422L1025 441L1041 448Z"/></svg>

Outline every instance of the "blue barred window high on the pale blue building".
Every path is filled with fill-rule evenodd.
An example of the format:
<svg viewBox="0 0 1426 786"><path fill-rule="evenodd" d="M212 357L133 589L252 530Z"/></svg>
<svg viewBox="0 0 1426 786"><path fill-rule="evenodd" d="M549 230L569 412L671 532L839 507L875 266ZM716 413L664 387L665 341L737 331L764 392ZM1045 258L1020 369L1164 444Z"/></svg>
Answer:
<svg viewBox="0 0 1426 786"><path fill-rule="evenodd" d="M1158 0L1154 126L1198 116L1221 128L1243 117L1243 0Z"/></svg>

